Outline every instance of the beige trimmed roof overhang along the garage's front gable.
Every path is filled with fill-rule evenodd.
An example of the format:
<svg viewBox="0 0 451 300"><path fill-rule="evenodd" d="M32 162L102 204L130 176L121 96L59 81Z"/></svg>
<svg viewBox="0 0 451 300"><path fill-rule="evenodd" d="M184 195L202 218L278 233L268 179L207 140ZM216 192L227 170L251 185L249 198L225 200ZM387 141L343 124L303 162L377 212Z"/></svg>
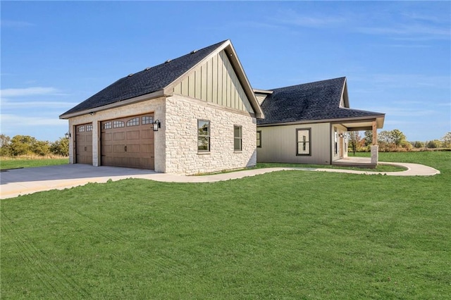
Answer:
<svg viewBox="0 0 451 300"><path fill-rule="evenodd" d="M187 74L191 73L191 71L194 70L195 68L197 68L197 66L202 65L202 63L204 63L205 61L208 61L213 56L216 56L221 51L226 52L227 57L233 66L233 70L235 70L235 73L236 73L238 79L240 80L242 88L245 91L247 99L249 99L252 109L254 110L255 117L257 119L264 118L264 113L261 110L259 101L257 101L257 97L254 94L254 90L252 89L252 87L249 83L249 80L247 79L245 70L242 68L240 60L238 59L238 56L236 54L235 49L233 48L232 42L230 42L230 39L228 39L226 42L224 42L221 46L218 46L218 48L215 51L211 52L211 54L209 54L209 56L206 56L204 59L202 59L202 61L199 61L199 63L194 65L192 68L190 68L190 70L187 70L185 73L183 73L183 75L178 77L178 79L171 82L170 85L168 85L167 87L165 87L163 89L163 93L168 96L172 96L173 92L174 92L174 87L176 85L178 85L182 80L184 80L185 76Z"/></svg>

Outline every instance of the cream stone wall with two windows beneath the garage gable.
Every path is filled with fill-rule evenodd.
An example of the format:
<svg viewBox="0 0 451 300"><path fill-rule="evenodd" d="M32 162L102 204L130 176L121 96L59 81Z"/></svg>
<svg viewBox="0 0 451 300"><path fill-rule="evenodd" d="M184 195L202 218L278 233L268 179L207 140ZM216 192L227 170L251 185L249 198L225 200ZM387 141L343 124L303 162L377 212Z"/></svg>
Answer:
<svg viewBox="0 0 451 300"><path fill-rule="evenodd" d="M197 120L210 121L210 152L197 151ZM174 95L166 99L166 173L210 173L257 163L257 121L249 113ZM242 151L233 150L233 126L242 126Z"/></svg>

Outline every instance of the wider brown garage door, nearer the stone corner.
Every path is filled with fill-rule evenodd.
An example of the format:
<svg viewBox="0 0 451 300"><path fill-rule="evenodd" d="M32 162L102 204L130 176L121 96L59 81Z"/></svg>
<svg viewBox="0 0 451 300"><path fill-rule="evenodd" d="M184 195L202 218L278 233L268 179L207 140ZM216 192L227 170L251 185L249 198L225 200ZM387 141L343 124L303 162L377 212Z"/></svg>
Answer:
<svg viewBox="0 0 451 300"><path fill-rule="evenodd" d="M101 123L101 165L154 170L153 114Z"/></svg>

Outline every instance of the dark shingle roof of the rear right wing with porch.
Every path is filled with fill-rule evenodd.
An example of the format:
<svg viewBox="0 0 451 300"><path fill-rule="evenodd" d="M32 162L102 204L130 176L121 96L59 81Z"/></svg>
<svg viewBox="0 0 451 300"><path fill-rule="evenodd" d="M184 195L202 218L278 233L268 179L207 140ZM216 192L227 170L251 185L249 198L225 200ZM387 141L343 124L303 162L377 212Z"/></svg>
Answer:
<svg viewBox="0 0 451 300"><path fill-rule="evenodd" d="M383 113L340 108L346 77L271 89L261 104L265 118L258 125L337 118L358 118Z"/></svg>

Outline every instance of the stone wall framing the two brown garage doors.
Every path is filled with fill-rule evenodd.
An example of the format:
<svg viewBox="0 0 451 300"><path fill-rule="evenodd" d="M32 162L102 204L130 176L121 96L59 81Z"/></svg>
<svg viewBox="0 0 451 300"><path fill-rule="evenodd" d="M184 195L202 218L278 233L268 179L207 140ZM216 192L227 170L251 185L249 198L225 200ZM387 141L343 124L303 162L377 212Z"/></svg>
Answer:
<svg viewBox="0 0 451 300"><path fill-rule="evenodd" d="M154 119L161 121L161 130L154 134L154 147L155 147L155 170L157 172L163 172L165 169L166 154L165 154L165 137L164 137L164 124L165 124L165 102L164 98L151 99L148 101L142 101L136 104L130 104L127 106L121 106L117 108L111 108L106 111L98 111L94 115L79 115L69 119L69 132L71 138L69 139L69 163L75 163L75 125L92 123L92 165L100 165L100 123L105 120L113 120L115 118L123 118L132 115L141 115L144 113L154 113Z"/></svg>

